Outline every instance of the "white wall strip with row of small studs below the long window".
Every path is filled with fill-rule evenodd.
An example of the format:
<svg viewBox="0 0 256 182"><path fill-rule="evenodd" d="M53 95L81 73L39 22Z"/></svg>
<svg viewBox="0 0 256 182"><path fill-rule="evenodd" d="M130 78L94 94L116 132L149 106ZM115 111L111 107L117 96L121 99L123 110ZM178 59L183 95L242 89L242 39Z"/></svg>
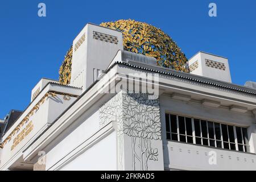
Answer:
<svg viewBox="0 0 256 182"><path fill-rule="evenodd" d="M209 163L210 151L216 152L216 164ZM256 155L168 141L164 144L164 165L183 170L255 170Z"/></svg>

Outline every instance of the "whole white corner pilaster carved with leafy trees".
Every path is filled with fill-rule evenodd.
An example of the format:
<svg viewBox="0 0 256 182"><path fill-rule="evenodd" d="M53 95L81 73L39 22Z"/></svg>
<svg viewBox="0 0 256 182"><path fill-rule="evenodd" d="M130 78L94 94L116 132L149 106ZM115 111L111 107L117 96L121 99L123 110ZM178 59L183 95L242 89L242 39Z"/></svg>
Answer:
<svg viewBox="0 0 256 182"><path fill-rule="evenodd" d="M117 122L119 170L163 170L159 99L121 91L100 109L101 126Z"/></svg>

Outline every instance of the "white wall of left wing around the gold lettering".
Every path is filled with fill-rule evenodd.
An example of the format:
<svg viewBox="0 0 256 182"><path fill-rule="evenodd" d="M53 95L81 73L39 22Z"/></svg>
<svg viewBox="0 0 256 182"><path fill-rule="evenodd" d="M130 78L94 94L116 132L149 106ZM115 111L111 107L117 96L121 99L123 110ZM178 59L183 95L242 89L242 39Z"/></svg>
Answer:
<svg viewBox="0 0 256 182"><path fill-rule="evenodd" d="M60 86L57 86L60 87ZM72 89L69 88L70 93L72 93ZM46 90L47 92L48 90ZM28 113L44 96L44 93L40 94L40 98L36 98L34 100L35 103L32 103L27 110L21 115L21 117L14 123L14 125L10 128L9 133L11 133L15 127L22 121L24 117L26 117L26 113ZM60 114L64 111L69 105L72 104L73 101L76 100L76 97L70 97L70 100L64 100L63 95L56 94L55 97L48 97L44 101L42 105L39 106L37 111L34 111L34 114L29 117L27 123L25 123L20 130L13 135L9 142L5 144L2 150L2 161L0 164L0 169L6 169L11 166L20 156L22 156L22 152L26 146L32 142L46 127L49 123L53 122ZM14 144L14 139L22 132L22 130L28 125L28 123L32 122L33 129L24 137L20 143L16 145L16 147L11 150L11 146ZM4 137L6 138L9 134L7 133Z"/></svg>

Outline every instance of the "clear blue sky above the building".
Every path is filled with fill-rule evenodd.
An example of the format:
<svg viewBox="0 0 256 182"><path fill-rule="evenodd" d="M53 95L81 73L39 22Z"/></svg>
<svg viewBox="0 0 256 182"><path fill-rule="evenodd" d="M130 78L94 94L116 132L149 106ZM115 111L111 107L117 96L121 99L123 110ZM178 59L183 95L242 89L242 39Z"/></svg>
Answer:
<svg viewBox="0 0 256 182"><path fill-rule="evenodd" d="M46 3L47 16L38 17ZM217 4L217 17L208 5ZM24 110L42 77L58 78L73 39L86 23L135 19L161 28L189 58L198 51L228 57L232 80L256 81L256 1L60 1L0 2L0 118Z"/></svg>

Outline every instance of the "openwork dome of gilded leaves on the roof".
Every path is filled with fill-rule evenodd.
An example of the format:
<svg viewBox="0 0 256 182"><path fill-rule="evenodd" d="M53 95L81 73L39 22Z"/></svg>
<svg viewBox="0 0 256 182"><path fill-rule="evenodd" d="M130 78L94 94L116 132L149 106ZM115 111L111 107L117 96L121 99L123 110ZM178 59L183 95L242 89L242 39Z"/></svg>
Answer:
<svg viewBox="0 0 256 182"><path fill-rule="evenodd" d="M157 65L177 71L189 72L187 58L177 44L159 28L135 20L117 20L100 26L119 30L123 34L123 49L155 57ZM59 80L69 84L71 78L72 47L59 70Z"/></svg>

